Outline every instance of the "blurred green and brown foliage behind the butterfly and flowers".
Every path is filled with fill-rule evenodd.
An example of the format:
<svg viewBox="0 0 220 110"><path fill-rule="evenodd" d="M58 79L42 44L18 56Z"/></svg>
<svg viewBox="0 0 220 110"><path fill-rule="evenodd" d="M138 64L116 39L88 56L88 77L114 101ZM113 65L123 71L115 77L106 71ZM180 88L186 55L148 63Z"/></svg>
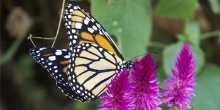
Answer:
<svg viewBox="0 0 220 110"><path fill-rule="evenodd" d="M197 62L193 110L220 105L220 0L78 0L106 28L127 60L151 52L160 82L170 73L182 43ZM28 55L28 33L53 37L62 0L2 0L0 110L97 110L98 102L70 102ZM56 47L66 47L61 34ZM51 41L35 41L50 46Z"/></svg>

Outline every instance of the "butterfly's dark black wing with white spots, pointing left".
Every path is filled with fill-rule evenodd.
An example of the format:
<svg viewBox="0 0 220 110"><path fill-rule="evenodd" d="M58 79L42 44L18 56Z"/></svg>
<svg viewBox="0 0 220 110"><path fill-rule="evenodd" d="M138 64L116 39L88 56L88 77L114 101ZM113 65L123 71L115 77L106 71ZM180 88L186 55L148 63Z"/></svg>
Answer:
<svg viewBox="0 0 220 110"><path fill-rule="evenodd" d="M67 65L70 63L70 54L67 49L33 48L30 55L46 69L56 81L57 87L71 100L78 96L72 91L67 80Z"/></svg>

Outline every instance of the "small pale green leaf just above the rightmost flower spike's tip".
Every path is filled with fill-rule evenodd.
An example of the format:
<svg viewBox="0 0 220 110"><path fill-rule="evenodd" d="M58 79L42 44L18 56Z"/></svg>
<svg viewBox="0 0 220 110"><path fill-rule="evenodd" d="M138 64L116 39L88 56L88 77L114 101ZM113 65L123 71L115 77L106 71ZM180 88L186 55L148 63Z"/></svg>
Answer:
<svg viewBox="0 0 220 110"><path fill-rule="evenodd" d="M182 37L186 37L187 41L193 45L199 46L201 37L199 24L196 22L187 23Z"/></svg>

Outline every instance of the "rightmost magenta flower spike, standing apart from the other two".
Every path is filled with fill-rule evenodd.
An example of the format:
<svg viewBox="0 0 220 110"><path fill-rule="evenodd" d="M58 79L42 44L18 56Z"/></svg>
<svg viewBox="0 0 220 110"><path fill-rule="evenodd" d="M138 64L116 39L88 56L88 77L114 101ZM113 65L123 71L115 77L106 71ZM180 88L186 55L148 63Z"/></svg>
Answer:
<svg viewBox="0 0 220 110"><path fill-rule="evenodd" d="M184 43L183 48L172 68L170 78L165 81L163 101L168 107L176 106L179 110L191 108L191 98L195 89L195 59L190 45Z"/></svg>

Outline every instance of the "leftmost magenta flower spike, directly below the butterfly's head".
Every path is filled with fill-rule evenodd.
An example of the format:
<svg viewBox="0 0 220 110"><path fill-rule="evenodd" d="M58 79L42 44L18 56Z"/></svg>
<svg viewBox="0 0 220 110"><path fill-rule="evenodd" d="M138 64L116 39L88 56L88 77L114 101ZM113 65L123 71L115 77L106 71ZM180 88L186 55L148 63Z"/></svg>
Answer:
<svg viewBox="0 0 220 110"><path fill-rule="evenodd" d="M107 95L101 97L102 110L129 110L129 72L121 71L108 86Z"/></svg>

